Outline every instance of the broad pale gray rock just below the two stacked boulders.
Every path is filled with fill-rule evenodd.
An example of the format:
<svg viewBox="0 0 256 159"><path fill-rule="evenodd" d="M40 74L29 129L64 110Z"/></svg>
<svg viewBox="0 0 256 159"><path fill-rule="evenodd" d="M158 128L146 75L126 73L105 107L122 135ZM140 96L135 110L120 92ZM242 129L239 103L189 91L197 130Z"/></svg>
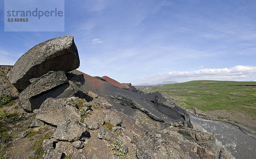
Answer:
<svg viewBox="0 0 256 159"><path fill-rule="evenodd" d="M61 99L48 98L41 105L36 118L52 125L58 125L69 119L79 121L81 116L76 113L75 107L69 106L67 102Z"/></svg>

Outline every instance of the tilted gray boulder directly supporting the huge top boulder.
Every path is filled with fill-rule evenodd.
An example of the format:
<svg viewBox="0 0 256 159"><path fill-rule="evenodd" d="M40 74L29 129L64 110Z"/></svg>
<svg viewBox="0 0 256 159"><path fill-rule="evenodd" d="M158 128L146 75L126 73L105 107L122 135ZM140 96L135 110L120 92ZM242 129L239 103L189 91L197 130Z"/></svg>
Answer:
<svg viewBox="0 0 256 159"><path fill-rule="evenodd" d="M39 109L47 98L71 97L79 90L76 84L67 80L64 71L49 71L20 93L20 107L27 112L32 112Z"/></svg>

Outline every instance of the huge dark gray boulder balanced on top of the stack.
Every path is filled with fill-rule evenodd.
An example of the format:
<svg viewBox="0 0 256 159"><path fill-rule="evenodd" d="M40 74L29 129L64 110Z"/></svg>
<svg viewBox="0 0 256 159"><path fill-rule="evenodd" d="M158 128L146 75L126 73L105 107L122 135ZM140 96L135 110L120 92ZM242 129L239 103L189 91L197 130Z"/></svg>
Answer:
<svg viewBox="0 0 256 159"><path fill-rule="evenodd" d="M40 77L49 71L69 72L80 65L73 36L47 40L29 49L9 71L9 81L24 90L30 79Z"/></svg>

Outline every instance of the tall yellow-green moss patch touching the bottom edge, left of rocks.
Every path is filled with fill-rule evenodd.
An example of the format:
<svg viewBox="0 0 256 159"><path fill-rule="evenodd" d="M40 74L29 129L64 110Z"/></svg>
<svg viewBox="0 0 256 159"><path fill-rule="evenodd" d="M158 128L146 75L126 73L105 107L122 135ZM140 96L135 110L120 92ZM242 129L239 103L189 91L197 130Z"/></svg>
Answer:
<svg viewBox="0 0 256 159"><path fill-rule="evenodd" d="M34 144L30 147L32 151L34 151L34 156L29 156L29 159L42 159L44 155L43 150L43 141L44 139L49 139L51 136L49 134L45 134L42 136L37 142L34 142Z"/></svg>

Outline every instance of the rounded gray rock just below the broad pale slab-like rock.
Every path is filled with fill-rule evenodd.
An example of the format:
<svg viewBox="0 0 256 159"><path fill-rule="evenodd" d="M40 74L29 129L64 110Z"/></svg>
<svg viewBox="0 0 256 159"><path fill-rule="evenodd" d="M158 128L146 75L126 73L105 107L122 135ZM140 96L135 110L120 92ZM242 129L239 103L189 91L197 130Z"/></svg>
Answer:
<svg viewBox="0 0 256 159"><path fill-rule="evenodd" d="M63 123L58 124L55 133L53 134L55 139L61 141L74 142L81 139L84 133L87 132L86 124L79 121L63 121Z"/></svg>

